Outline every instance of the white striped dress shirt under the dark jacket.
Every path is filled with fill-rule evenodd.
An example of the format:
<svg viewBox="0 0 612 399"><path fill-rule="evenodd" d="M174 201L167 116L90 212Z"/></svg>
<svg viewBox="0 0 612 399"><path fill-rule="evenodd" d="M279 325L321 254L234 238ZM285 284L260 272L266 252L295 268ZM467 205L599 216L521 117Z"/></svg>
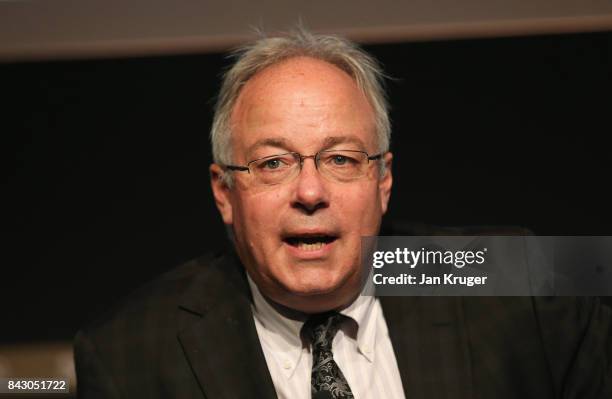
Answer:
<svg viewBox="0 0 612 399"><path fill-rule="evenodd" d="M306 317L298 320L279 313L248 280L259 342L278 398L310 399L312 354L300 336ZM332 350L355 398L405 399L378 298L360 295L340 313L349 319L334 337Z"/></svg>

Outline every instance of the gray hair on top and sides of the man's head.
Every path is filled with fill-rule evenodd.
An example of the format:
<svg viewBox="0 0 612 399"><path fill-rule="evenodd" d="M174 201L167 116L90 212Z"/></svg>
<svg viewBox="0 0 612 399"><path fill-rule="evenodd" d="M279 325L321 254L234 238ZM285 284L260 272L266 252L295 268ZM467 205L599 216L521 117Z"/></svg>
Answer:
<svg viewBox="0 0 612 399"><path fill-rule="evenodd" d="M210 132L215 163L232 164L230 117L242 87L259 71L299 56L328 62L355 80L374 110L378 151L389 150L391 123L384 90L385 76L378 61L355 43L338 36L313 34L298 27L285 36L263 37L239 48L233 56L236 62L223 76ZM381 162L381 173L384 173L384 162ZM231 179L229 174L225 176ZM231 184L231 180L226 182Z"/></svg>

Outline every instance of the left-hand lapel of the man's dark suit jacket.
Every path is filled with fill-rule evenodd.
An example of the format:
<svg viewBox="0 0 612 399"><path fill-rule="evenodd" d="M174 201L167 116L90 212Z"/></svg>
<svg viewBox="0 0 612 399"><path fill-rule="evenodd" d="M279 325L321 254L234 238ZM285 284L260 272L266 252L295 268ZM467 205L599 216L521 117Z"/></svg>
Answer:
<svg viewBox="0 0 612 399"><path fill-rule="evenodd" d="M206 398L276 398L234 257L201 273L183 298L179 341Z"/></svg>

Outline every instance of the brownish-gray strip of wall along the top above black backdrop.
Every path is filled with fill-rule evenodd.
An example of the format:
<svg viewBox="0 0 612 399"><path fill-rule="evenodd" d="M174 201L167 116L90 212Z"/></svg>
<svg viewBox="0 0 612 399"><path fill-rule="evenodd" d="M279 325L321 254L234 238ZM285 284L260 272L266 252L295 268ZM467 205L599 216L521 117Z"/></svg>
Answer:
<svg viewBox="0 0 612 399"><path fill-rule="evenodd" d="M363 43L612 29L608 0L0 0L0 61L225 50L301 19Z"/></svg>

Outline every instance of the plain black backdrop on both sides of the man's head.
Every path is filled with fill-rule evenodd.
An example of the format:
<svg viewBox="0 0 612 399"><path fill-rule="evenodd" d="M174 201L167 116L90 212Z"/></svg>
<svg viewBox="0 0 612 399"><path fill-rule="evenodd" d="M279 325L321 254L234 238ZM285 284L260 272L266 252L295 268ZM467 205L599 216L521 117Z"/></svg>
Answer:
<svg viewBox="0 0 612 399"><path fill-rule="evenodd" d="M366 47L393 77L411 223L612 234L612 33ZM225 245L208 183L222 54L0 65L0 343L70 339Z"/></svg>

